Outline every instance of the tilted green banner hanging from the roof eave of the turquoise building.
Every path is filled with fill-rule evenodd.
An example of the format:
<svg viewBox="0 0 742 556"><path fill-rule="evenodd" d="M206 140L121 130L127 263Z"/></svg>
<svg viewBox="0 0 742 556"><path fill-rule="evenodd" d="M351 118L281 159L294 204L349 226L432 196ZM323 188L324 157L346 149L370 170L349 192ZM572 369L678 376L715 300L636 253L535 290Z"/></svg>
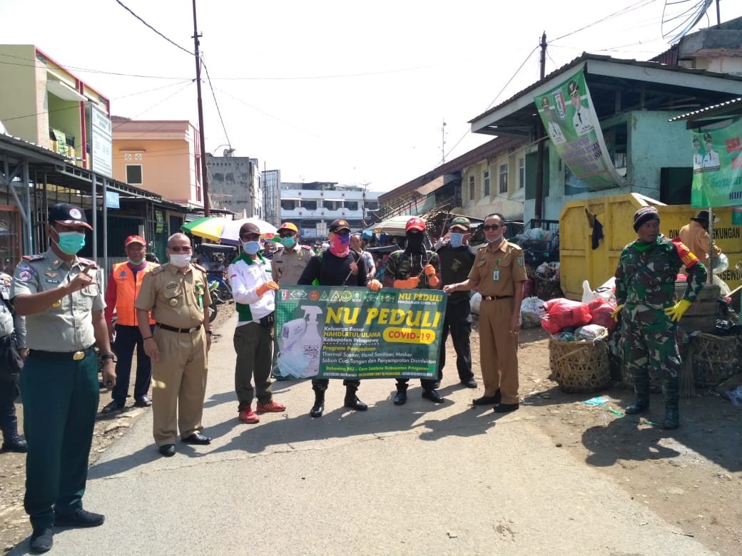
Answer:
<svg viewBox="0 0 742 556"><path fill-rule="evenodd" d="M547 94L533 99L557 153L588 190L626 185L605 146L582 69Z"/></svg>

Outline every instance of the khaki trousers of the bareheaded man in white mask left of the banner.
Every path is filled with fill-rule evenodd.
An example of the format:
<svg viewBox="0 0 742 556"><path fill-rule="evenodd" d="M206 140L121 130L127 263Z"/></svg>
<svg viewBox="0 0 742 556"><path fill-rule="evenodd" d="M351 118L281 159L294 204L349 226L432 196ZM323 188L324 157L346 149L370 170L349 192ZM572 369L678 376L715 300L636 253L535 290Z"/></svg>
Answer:
<svg viewBox="0 0 742 556"><path fill-rule="evenodd" d="M157 446L203 431L206 396L206 334L154 329L160 360L152 360L152 435Z"/></svg>

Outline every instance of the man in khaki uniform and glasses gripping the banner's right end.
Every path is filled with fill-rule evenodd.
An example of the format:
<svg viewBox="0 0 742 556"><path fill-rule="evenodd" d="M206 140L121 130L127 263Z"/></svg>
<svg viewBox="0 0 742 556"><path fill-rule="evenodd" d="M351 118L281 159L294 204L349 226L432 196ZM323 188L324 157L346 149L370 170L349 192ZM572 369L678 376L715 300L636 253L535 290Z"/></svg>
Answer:
<svg viewBox="0 0 742 556"><path fill-rule="evenodd" d="M507 228L502 214L487 215L487 245L476 252L468 279L443 288L447 294L476 289L482 294L479 306L479 364L485 395L475 406L495 406L496 413L515 411L518 397L518 332L525 274L523 250L505 241Z"/></svg>

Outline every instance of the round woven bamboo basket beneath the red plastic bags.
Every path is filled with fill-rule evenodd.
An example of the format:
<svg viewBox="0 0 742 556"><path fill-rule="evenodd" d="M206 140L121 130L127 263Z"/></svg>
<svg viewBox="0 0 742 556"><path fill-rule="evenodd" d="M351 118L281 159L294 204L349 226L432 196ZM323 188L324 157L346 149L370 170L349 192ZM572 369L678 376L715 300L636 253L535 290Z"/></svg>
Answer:
<svg viewBox="0 0 742 556"><path fill-rule="evenodd" d="M611 382L605 340L564 342L549 339L549 365L565 392L594 392Z"/></svg>

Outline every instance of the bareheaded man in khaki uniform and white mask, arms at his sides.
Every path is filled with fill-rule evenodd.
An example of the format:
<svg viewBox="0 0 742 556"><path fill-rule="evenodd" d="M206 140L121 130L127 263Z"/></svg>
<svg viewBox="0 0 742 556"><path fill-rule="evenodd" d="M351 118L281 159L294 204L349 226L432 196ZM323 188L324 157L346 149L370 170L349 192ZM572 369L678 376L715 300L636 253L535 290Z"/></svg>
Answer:
<svg viewBox="0 0 742 556"><path fill-rule="evenodd" d="M185 234L168 238L170 262L145 274L134 302L145 353L152 360L152 430L160 454L175 455L175 439L209 444L202 434L206 396L206 354L211 348L206 270L191 265ZM148 311L157 322L154 334Z"/></svg>

